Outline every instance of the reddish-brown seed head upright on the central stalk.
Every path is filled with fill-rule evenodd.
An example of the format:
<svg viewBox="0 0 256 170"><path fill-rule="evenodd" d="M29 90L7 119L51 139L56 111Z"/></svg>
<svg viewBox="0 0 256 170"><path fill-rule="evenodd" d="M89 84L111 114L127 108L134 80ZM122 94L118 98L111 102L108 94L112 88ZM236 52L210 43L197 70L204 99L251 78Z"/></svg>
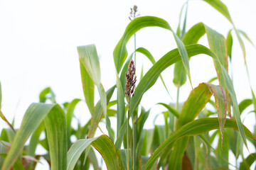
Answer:
<svg viewBox="0 0 256 170"><path fill-rule="evenodd" d="M125 96L129 98L131 95L133 96L134 86L136 83L136 76L134 77L135 66L134 66L133 60L129 62L128 72L126 72L125 75L126 75Z"/></svg>

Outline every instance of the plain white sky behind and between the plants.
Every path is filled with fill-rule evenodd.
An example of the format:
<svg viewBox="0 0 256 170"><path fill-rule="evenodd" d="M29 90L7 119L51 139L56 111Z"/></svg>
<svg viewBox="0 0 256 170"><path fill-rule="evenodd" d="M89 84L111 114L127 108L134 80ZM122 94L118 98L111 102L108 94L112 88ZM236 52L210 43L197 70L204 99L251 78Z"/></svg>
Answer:
<svg viewBox="0 0 256 170"><path fill-rule="evenodd" d="M4 1L0 0L0 81L2 85L2 111L8 120L15 116L15 127L21 123L26 108L38 102L38 95L52 87L58 103L84 98L78 62L78 45L95 43L100 56L102 84L105 90L115 84L114 61L112 52L129 23L130 8L136 4L141 16L158 16L169 22L176 30L181 6L185 1ZM254 0L225 0L235 26L244 30L256 43ZM218 11L200 0L188 4L187 29L198 22L206 23L223 35L227 35L231 24ZM234 35L234 34L233 34ZM206 37L200 43L208 46ZM127 45L128 52L133 50L133 39ZM137 33L137 47L145 47L156 60L169 50L176 48L174 38L162 28L144 28ZM247 64L252 89L256 92L255 47L245 40ZM151 64L142 55L137 55L137 70L144 72ZM190 62L193 87L215 77L215 69L210 57L193 57ZM238 102L251 98L250 86L245 72L242 51L238 40L233 36L233 80ZM173 68L162 74L171 96L176 101L176 88L172 84ZM181 88L180 101L185 101L191 91L188 82ZM96 91L97 96L97 91ZM148 99L150 98L150 100ZM97 101L97 98L95 99ZM149 109L156 103L174 102L157 81L142 98L142 105ZM80 104L76 115L88 120L89 112ZM151 118L164 111L154 106ZM249 111L252 111L249 109ZM250 121L249 121L250 120ZM253 130L255 116L245 118L245 125ZM148 121L149 122L149 121ZM159 121L161 123L161 121ZM103 125L102 125L103 126ZM0 130L6 128L3 121ZM151 128L152 124L146 124ZM251 151L253 152L253 150Z"/></svg>

